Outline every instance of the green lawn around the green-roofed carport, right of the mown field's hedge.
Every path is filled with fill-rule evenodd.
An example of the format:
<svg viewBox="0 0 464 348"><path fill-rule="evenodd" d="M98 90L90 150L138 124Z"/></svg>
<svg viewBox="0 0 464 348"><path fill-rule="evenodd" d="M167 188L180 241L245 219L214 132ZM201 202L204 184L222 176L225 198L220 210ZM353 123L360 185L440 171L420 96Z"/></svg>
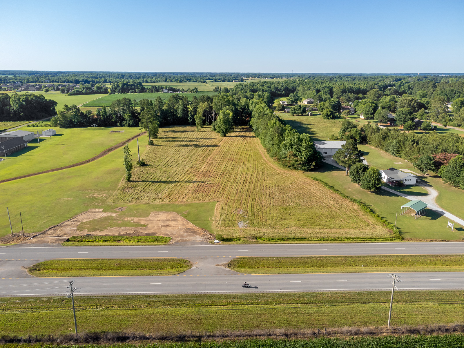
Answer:
<svg viewBox="0 0 464 348"><path fill-rule="evenodd" d="M361 148L362 146L360 146ZM364 151L363 151L364 152ZM373 151L371 151L373 152ZM393 156L392 156L393 157ZM383 157L380 157L383 159ZM367 162L369 159L366 157ZM385 160L385 159L383 159ZM397 161L397 160L394 160ZM399 160L398 160L399 161ZM396 165L398 168L398 165ZM385 168L388 168L386 166ZM399 168L400 169L400 168ZM384 190L380 190L377 193L370 193L367 190L362 189L357 184L351 182L349 176L345 175L345 171L329 164L324 164L322 168L315 172L305 173L311 177L318 178L326 181L329 185L334 186L337 190L357 200L361 200L366 203L375 213L378 213L382 218L386 219L390 223L395 223L396 212L400 212L401 206L409 200L400 197L394 193L390 193ZM413 190L420 190L419 188L406 189L416 192L416 194L422 194L423 192L417 192ZM409 192L410 193L410 192ZM420 199L418 197L418 199ZM425 216L419 219L414 219L413 216L398 213L398 219L396 226L400 229L400 235L406 239L438 239L438 240L462 240L464 238L464 229L462 226L458 226L455 231L451 232L451 228L446 228L448 219L444 216L440 216L438 213L434 213L432 210L428 210Z"/></svg>

